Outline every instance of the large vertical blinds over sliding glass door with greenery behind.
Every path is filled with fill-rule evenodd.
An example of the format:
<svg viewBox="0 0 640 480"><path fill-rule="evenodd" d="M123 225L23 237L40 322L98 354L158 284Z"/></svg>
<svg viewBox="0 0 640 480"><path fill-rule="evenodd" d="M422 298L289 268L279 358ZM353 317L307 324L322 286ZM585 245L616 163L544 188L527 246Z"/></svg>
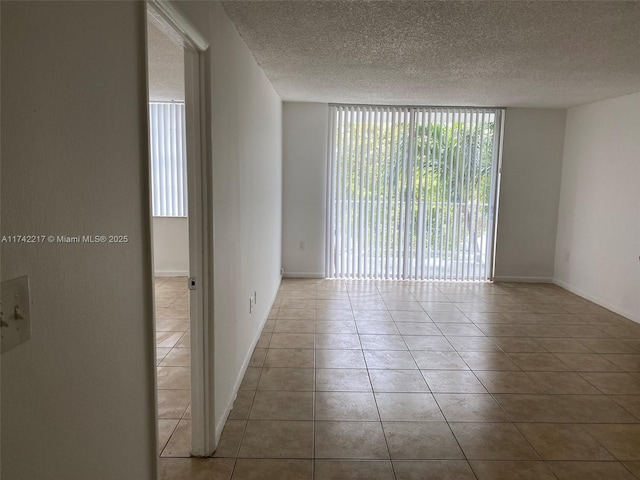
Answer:
<svg viewBox="0 0 640 480"><path fill-rule="evenodd" d="M502 116L332 105L327 277L489 279Z"/></svg>

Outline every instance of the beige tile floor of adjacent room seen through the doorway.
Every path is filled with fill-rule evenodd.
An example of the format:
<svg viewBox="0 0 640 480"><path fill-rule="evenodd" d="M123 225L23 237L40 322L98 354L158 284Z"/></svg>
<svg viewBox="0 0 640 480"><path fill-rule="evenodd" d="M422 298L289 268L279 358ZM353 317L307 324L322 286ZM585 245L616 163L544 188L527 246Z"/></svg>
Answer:
<svg viewBox="0 0 640 480"><path fill-rule="evenodd" d="M158 451L161 457L188 457L191 392L186 277L156 278L155 295Z"/></svg>

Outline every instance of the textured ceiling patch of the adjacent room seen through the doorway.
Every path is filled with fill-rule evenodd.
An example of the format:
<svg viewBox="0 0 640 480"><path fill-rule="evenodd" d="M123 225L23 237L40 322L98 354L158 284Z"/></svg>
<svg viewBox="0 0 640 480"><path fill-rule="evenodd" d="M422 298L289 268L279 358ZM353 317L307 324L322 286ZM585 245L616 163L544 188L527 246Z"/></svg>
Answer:
<svg viewBox="0 0 640 480"><path fill-rule="evenodd" d="M149 99L184 101L184 52L158 27L147 22Z"/></svg>

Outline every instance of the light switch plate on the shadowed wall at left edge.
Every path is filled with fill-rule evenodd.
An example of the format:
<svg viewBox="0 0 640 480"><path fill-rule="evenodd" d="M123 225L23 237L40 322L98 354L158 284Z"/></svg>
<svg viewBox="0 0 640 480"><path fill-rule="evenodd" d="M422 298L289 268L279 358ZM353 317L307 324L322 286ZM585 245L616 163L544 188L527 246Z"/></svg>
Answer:
<svg viewBox="0 0 640 480"><path fill-rule="evenodd" d="M0 286L2 303L2 353L31 338L31 299L29 277L6 280Z"/></svg>

